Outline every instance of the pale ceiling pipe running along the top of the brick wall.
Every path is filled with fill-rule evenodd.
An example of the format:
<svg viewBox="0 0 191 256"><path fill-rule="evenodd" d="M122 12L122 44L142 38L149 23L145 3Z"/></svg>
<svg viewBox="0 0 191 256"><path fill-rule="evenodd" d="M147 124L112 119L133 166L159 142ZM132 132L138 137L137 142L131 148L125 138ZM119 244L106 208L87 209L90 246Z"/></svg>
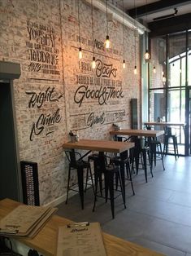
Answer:
<svg viewBox="0 0 191 256"><path fill-rule="evenodd" d="M91 4L91 0L85 0L85 1ZM97 7L99 10L106 12L106 4L102 0L93 0L93 7ZM121 11L119 8L112 5L110 2L108 2L107 11L108 13L111 13L113 15L113 19L123 24L123 11ZM137 20L134 20L125 12L124 12L124 25L130 29L137 29L138 33L140 34L143 34L145 32L150 32L150 30L147 29L143 24L139 23Z"/></svg>

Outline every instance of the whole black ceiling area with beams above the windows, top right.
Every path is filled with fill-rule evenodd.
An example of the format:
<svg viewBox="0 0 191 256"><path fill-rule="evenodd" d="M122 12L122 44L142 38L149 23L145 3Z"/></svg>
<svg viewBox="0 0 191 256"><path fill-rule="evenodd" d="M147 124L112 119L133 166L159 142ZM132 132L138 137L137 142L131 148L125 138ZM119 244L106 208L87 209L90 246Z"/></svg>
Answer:
<svg viewBox="0 0 191 256"><path fill-rule="evenodd" d="M191 29L191 1L161 0L126 10L126 12L142 23L145 17L146 21L147 16L150 17L147 25L150 29L150 37Z"/></svg>

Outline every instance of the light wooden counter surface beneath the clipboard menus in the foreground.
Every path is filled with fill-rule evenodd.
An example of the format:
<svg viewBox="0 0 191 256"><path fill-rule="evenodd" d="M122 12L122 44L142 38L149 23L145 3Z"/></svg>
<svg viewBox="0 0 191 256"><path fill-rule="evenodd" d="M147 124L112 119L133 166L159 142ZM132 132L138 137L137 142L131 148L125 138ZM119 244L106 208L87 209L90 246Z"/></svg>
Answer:
<svg viewBox="0 0 191 256"><path fill-rule="evenodd" d="M20 205L20 203L10 199L4 199L0 201L0 220L6 214L10 213L11 210L14 210L17 205ZM16 238L15 240L20 241L20 243L27 245L30 248L36 249L44 256L54 256L57 229L59 226L67 225L67 223L71 223L71 221L67 218L61 218L58 215L54 215L50 221L46 223L45 227L43 227L37 236L35 236L33 239ZM163 255L106 233L103 233L103 241L108 256Z"/></svg>

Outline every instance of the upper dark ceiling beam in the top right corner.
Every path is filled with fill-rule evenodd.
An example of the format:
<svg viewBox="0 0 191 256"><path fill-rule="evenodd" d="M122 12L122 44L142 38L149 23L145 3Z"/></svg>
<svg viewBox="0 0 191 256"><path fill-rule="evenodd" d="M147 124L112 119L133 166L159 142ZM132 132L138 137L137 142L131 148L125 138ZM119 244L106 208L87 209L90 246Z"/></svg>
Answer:
<svg viewBox="0 0 191 256"><path fill-rule="evenodd" d="M186 0L161 0L158 2L153 2L150 4L147 4L145 6L133 8L131 10L127 10L127 14L130 15L132 18L135 17L136 11L137 11L137 18L141 18L142 16L149 15L152 13L156 13L159 11L164 11L167 9L180 7L185 4L189 4L191 1Z"/></svg>

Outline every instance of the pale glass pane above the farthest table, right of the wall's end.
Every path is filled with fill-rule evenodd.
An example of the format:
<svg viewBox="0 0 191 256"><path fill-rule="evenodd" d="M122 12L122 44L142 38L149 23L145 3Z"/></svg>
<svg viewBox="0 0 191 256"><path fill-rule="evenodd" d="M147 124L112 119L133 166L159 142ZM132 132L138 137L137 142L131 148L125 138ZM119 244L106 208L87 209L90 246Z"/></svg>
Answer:
<svg viewBox="0 0 191 256"><path fill-rule="evenodd" d="M150 121L160 117L165 121L165 90L150 90Z"/></svg>

